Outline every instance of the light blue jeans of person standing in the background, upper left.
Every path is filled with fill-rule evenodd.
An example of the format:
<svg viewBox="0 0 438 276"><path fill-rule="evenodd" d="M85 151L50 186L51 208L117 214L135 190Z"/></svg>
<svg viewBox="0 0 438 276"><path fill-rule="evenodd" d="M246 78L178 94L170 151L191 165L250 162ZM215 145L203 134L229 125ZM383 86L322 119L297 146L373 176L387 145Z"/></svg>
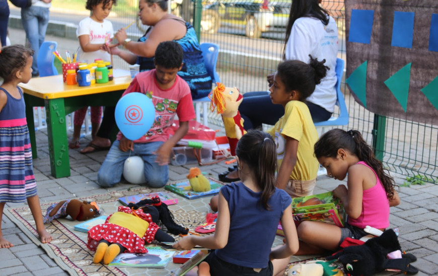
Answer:
<svg viewBox="0 0 438 276"><path fill-rule="evenodd" d="M32 62L32 75L38 74L38 51L46 36L47 25L49 24L49 9L30 6L21 9L21 23L23 24L26 38L31 48L35 51Z"/></svg>

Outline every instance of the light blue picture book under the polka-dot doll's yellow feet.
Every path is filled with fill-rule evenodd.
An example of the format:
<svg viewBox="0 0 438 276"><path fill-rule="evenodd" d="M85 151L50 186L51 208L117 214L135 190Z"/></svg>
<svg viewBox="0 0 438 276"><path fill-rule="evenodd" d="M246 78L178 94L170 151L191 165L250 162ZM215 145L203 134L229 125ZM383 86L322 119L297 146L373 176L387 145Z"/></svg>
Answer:
<svg viewBox="0 0 438 276"><path fill-rule="evenodd" d="M121 253L109 263L110 266L133 266L160 268L172 260L174 251L166 251L161 247L146 247L147 253Z"/></svg>

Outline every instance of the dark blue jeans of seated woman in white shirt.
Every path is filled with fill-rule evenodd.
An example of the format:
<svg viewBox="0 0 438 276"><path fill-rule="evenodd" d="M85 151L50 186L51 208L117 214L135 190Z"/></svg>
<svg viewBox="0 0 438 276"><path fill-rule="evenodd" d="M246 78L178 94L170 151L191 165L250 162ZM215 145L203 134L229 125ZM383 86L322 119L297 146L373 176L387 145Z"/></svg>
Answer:
<svg viewBox="0 0 438 276"><path fill-rule="evenodd" d="M313 122L328 120L331 112L325 108L306 101ZM273 104L267 91L247 92L243 94L239 112L246 130L262 127L262 123L274 125L284 115L284 108L280 104Z"/></svg>

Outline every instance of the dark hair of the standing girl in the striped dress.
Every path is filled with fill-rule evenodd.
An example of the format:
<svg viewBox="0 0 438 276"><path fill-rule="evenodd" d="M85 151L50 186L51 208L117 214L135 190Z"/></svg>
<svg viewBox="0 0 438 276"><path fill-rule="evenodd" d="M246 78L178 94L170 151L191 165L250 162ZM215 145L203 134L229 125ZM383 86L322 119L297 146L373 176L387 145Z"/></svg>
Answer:
<svg viewBox="0 0 438 276"><path fill-rule="evenodd" d="M0 52L0 77L4 82L12 81L15 73L26 66L28 58L33 54L34 50L23 45L3 47Z"/></svg>

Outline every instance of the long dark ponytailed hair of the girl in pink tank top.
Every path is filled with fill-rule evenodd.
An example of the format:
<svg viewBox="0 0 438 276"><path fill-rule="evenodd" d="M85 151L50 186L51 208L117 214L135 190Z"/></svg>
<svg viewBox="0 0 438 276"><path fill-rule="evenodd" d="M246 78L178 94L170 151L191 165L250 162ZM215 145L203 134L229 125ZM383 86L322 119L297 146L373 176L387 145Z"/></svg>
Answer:
<svg viewBox="0 0 438 276"><path fill-rule="evenodd" d="M391 200L394 197L396 187L394 179L385 173L382 162L374 156L373 149L363 140L359 131L352 129L345 131L340 128L330 129L315 143L315 157L336 158L339 149L349 151L357 156L360 161L373 168L385 188L388 199Z"/></svg>

